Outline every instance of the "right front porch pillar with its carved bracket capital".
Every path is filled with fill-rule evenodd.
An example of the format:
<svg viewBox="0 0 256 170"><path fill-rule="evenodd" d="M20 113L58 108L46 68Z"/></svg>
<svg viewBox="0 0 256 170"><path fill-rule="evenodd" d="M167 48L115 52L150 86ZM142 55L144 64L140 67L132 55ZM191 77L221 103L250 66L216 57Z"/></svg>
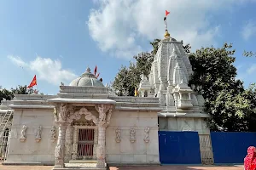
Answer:
<svg viewBox="0 0 256 170"><path fill-rule="evenodd" d="M96 105L96 111L99 113L97 167L102 168L106 162L106 128L112 115L112 105Z"/></svg>

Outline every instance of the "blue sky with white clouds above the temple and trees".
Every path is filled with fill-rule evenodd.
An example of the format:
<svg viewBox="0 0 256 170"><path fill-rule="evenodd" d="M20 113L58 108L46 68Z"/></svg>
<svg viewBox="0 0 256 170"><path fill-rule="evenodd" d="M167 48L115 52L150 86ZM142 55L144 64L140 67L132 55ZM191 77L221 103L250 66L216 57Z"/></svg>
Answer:
<svg viewBox="0 0 256 170"><path fill-rule="evenodd" d="M29 85L57 94L89 66L97 65L104 84L121 65L151 51L163 38L165 11L171 37L201 47L236 49L237 77L256 82L256 0L1 0L0 86Z"/></svg>

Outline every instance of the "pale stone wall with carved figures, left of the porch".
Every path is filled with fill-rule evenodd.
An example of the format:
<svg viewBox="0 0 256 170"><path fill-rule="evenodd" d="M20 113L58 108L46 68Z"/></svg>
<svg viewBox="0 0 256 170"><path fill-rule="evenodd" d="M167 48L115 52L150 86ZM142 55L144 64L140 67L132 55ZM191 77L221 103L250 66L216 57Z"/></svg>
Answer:
<svg viewBox="0 0 256 170"><path fill-rule="evenodd" d="M26 125L26 141L20 142L20 132ZM7 161L55 161L55 144L50 141L50 129L55 125L52 110L16 110L11 129ZM42 126L42 139L35 140L38 126Z"/></svg>

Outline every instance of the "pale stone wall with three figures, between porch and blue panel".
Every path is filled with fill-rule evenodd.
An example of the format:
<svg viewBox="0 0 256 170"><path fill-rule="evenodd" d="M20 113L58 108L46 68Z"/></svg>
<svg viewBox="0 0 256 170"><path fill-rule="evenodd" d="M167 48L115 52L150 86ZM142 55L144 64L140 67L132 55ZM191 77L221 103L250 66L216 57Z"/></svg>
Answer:
<svg viewBox="0 0 256 170"><path fill-rule="evenodd" d="M156 112L114 111L106 132L108 163L159 163L158 117ZM121 141L115 141L115 130L121 130ZM136 142L130 141L130 129L136 129ZM149 142L144 129L150 127Z"/></svg>

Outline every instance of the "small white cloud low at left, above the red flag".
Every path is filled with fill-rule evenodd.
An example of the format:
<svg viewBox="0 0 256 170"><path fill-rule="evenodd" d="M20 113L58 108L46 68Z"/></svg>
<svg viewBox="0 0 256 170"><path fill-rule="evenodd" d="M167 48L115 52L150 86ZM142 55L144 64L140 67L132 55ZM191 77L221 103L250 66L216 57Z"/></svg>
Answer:
<svg viewBox="0 0 256 170"><path fill-rule="evenodd" d="M61 82L70 82L78 77L73 71L68 71L62 68L60 60L37 57L36 59L25 62L18 56L9 55L8 58L18 66L25 67L37 74L38 79L46 82L59 85Z"/></svg>

